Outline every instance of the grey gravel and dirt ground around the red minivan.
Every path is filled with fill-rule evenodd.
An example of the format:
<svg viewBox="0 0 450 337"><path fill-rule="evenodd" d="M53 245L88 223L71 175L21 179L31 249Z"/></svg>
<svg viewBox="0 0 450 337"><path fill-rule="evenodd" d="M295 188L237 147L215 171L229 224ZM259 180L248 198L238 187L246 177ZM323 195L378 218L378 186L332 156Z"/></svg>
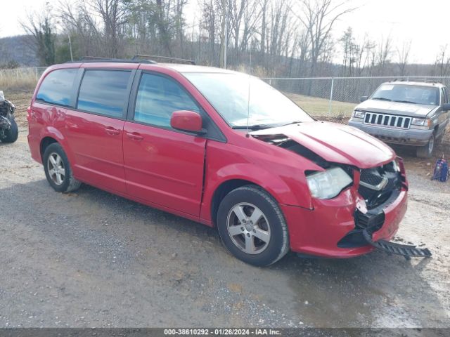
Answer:
<svg viewBox="0 0 450 337"><path fill-rule="evenodd" d="M20 137L0 144L0 327L450 327L450 182L406 159L398 237L434 254L347 260L293 253L271 267L233 258L216 230L94 187L58 194ZM448 153L448 145L442 147Z"/></svg>

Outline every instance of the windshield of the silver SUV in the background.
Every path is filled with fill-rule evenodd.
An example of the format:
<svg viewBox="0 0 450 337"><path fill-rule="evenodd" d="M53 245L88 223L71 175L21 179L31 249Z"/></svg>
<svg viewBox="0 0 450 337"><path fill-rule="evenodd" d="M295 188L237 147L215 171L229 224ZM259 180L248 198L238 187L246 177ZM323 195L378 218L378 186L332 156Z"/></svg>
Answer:
<svg viewBox="0 0 450 337"><path fill-rule="evenodd" d="M383 84L371 98L401 103L439 105L439 89L430 86Z"/></svg>

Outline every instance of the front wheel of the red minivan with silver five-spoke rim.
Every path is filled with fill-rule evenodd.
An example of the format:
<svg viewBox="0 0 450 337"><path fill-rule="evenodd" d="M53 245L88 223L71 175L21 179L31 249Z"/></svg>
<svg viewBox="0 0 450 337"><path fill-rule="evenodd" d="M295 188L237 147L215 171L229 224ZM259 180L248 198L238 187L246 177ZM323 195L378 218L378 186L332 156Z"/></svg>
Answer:
<svg viewBox="0 0 450 337"><path fill-rule="evenodd" d="M244 211L241 217L247 216L246 224L233 211L236 207ZM250 219L256 209L262 212L262 216L258 223L252 223ZM250 265L271 265L289 251L288 226L278 203L269 193L255 185L238 187L226 194L217 212L217 227L226 249ZM242 232L231 234L231 230ZM261 233L268 238L268 242L259 239ZM248 242L252 244L248 245ZM253 253L245 251L248 246L254 249Z"/></svg>

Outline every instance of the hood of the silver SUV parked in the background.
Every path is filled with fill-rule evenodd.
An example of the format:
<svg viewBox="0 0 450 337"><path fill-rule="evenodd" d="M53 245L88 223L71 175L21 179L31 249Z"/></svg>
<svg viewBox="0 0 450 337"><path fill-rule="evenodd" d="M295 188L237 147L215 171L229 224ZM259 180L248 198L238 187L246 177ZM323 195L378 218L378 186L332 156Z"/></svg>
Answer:
<svg viewBox="0 0 450 337"><path fill-rule="evenodd" d="M425 117L436 107L436 105L389 102L387 100L366 100L356 106L355 109L385 114L401 114L409 117Z"/></svg>

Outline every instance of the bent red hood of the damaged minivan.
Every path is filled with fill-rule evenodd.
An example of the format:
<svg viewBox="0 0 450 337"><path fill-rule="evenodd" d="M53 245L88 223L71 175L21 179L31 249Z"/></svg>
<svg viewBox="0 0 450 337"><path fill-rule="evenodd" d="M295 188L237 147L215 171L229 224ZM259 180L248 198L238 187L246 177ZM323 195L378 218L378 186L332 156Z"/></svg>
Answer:
<svg viewBox="0 0 450 337"><path fill-rule="evenodd" d="M395 158L394 151L367 133L327 121L307 121L254 131L252 136L285 135L326 161L359 169L380 166Z"/></svg>

